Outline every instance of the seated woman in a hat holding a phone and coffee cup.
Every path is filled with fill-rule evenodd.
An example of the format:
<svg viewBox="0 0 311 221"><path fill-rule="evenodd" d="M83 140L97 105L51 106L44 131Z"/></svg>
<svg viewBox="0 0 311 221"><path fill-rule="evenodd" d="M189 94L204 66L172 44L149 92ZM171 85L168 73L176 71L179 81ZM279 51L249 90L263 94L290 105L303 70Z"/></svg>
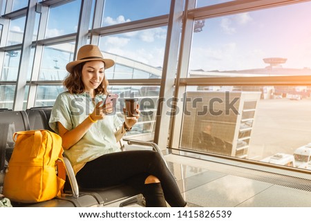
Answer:
<svg viewBox="0 0 311 221"><path fill-rule="evenodd" d="M67 64L67 91L58 95L50 127L62 137L64 151L79 186L100 188L126 182L142 190L146 206L185 206L186 202L166 164L155 151L120 151L117 142L138 122L120 121L111 104L104 104L108 81L104 70L114 65L97 46L79 48ZM117 129L116 129L117 128Z"/></svg>

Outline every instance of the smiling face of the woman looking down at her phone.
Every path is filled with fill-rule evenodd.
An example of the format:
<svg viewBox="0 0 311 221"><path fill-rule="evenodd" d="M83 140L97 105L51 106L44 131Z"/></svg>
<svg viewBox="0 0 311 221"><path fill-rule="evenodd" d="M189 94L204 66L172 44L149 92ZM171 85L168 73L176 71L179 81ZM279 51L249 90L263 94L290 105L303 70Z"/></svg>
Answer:
<svg viewBox="0 0 311 221"><path fill-rule="evenodd" d="M104 62L103 61L87 61L82 68L82 82L84 91L92 92L104 79Z"/></svg>

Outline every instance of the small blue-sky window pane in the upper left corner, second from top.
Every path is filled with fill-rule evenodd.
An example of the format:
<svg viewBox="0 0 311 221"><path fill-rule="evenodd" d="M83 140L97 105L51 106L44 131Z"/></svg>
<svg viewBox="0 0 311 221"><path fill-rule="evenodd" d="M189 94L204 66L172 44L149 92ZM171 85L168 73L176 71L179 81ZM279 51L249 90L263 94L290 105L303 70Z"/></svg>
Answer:
<svg viewBox="0 0 311 221"><path fill-rule="evenodd" d="M19 17L10 20L7 46L21 44L23 42L23 32L25 29L26 17Z"/></svg>

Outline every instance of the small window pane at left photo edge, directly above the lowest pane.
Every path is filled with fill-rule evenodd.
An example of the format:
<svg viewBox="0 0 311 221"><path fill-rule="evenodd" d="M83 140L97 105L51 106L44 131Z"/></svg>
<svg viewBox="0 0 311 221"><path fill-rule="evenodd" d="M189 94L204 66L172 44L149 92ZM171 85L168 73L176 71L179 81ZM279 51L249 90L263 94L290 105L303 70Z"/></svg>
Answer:
<svg viewBox="0 0 311 221"><path fill-rule="evenodd" d="M9 50L5 52L1 81L17 80L20 58L21 58L21 50Z"/></svg>

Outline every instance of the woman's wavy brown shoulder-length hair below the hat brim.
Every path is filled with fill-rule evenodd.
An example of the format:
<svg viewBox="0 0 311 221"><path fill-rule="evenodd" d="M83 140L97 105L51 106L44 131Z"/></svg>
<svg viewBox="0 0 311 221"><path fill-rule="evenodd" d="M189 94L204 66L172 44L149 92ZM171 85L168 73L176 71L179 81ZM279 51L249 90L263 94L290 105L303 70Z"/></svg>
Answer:
<svg viewBox="0 0 311 221"><path fill-rule="evenodd" d="M84 92L84 84L82 81L82 68L84 64L86 64L86 62L77 64L77 66L73 68L73 71L69 73L69 75L63 81L64 86L67 88L70 94L80 94ZM108 95L108 85L109 82L106 79L106 75L104 75L102 84L100 84L100 86L95 89L95 94Z"/></svg>

